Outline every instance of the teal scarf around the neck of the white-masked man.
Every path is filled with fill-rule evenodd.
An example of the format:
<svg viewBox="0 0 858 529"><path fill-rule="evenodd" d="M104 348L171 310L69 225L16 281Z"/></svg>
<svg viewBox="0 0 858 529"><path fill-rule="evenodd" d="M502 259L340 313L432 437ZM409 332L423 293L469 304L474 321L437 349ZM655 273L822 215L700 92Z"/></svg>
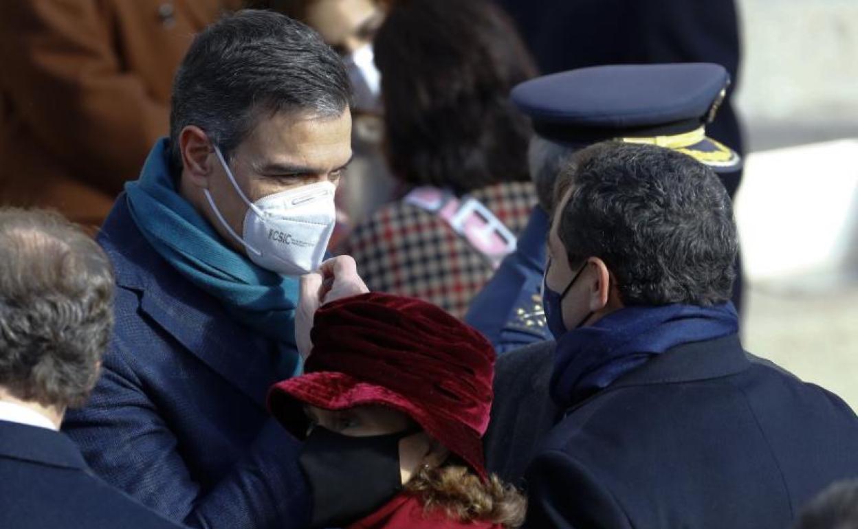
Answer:
<svg viewBox="0 0 858 529"><path fill-rule="evenodd" d="M131 217L154 249L191 283L221 301L239 322L281 343L300 369L295 346L298 280L261 268L229 248L178 195L169 169L169 141L149 153L140 178L125 184Z"/></svg>

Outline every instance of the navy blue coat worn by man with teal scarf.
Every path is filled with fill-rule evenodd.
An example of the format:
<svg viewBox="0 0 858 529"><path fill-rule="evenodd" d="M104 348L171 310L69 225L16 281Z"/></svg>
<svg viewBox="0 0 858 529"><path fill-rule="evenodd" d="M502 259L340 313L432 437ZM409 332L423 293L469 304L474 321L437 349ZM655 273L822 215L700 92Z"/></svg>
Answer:
<svg viewBox="0 0 858 529"><path fill-rule="evenodd" d="M87 406L63 430L94 472L171 520L305 526L299 443L265 407L281 352L148 244L120 195L98 242L116 270L116 328Z"/></svg>

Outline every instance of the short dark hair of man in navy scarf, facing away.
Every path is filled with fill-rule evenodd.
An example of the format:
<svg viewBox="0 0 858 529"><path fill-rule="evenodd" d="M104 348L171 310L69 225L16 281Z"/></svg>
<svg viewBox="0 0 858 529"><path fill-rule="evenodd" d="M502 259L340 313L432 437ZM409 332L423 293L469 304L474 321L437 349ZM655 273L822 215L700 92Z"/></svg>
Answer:
<svg viewBox="0 0 858 529"><path fill-rule="evenodd" d="M558 234L570 264L601 258L626 305L730 298L733 207L709 167L663 147L608 142L577 153L567 170Z"/></svg>

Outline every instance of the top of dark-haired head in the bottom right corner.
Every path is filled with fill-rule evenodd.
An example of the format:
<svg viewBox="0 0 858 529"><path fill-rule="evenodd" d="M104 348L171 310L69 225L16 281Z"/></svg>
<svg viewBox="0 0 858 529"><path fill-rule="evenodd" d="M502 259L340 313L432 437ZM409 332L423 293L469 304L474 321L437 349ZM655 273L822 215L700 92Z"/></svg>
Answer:
<svg viewBox="0 0 858 529"><path fill-rule="evenodd" d="M795 529L858 529L858 479L829 485L801 509Z"/></svg>

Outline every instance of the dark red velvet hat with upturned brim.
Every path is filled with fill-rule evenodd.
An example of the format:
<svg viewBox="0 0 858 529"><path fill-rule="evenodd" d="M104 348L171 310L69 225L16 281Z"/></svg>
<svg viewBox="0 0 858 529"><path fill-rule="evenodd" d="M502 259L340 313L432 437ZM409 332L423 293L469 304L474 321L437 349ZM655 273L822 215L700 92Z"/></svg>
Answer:
<svg viewBox="0 0 858 529"><path fill-rule="evenodd" d="M476 330L435 305L370 292L323 305L305 375L275 384L271 413L293 435L305 404L327 410L388 406L486 478L483 434L492 407L495 353Z"/></svg>

